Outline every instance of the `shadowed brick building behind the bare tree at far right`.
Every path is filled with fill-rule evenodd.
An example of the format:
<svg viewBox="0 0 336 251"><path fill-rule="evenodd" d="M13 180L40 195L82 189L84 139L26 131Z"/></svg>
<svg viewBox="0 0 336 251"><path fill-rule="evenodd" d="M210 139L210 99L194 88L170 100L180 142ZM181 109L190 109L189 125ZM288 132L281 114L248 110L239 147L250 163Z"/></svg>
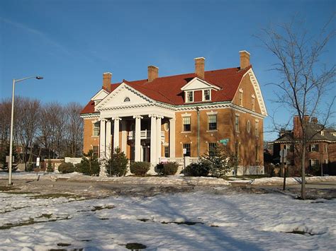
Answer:
<svg viewBox="0 0 336 251"><path fill-rule="evenodd" d="M308 128L308 144L306 149L306 170L308 173L336 174L336 130L324 128L318 124L315 117L305 116ZM302 129L298 116L293 117L293 130L284 131L278 139L274 141L274 158L279 158L282 149L287 149L287 164L296 168L296 174L301 168L301 143Z"/></svg>

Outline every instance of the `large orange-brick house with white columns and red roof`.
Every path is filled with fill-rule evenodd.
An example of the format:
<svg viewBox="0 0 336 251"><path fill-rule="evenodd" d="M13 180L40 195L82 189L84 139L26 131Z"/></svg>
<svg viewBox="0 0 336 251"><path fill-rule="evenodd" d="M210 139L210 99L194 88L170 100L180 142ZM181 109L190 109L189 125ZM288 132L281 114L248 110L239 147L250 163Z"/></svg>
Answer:
<svg viewBox="0 0 336 251"><path fill-rule="evenodd" d="M159 77L148 66L147 79L111 83L112 74L104 73L81 113L84 152L108 158L119 147L130 160L154 166L161 158L177 161L183 148L197 158L225 141L242 167L262 173L267 110L250 54L240 52L240 67L214 71L204 70L203 57L194 60L191 74Z"/></svg>

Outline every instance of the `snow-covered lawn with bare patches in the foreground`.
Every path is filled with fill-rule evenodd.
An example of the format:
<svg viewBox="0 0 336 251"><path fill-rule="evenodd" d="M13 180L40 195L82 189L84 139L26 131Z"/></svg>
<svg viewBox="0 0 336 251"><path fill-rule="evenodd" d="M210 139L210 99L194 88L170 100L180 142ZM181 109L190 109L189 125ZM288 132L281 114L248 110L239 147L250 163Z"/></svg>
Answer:
<svg viewBox="0 0 336 251"><path fill-rule="evenodd" d="M217 189L104 199L0 193L0 249L335 249L335 199Z"/></svg>

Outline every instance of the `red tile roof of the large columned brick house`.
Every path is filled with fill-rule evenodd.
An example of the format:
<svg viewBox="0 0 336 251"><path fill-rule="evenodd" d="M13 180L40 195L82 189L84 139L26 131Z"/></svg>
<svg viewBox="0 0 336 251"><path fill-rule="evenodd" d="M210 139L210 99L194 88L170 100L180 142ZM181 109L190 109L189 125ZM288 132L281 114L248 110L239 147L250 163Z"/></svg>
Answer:
<svg viewBox="0 0 336 251"><path fill-rule="evenodd" d="M205 72L205 81L215 86L219 86L219 91L213 91L211 94L212 102L223 102L233 100L237 88L242 80L242 76L251 68L240 70L237 68L220 69ZM134 88L148 98L171 105L184 105L184 95L181 88L189 83L196 74L181 74L175 76L164 76L156 78L152 82L147 79L138 81L124 81L128 86ZM111 91L114 91L121 83L111 84ZM84 107L81 114L93 113L94 102L90 102Z"/></svg>

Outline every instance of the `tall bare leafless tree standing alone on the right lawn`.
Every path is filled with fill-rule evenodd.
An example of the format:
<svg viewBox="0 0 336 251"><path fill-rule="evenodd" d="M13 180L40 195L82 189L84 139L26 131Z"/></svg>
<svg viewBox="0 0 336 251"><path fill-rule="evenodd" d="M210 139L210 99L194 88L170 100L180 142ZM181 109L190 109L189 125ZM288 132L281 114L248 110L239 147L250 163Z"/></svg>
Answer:
<svg viewBox="0 0 336 251"><path fill-rule="evenodd" d="M272 83L277 91L276 102L297 115L300 122L301 134L295 140L300 146L302 199L306 199L307 142L314 136L309 132L307 117L319 117L322 124L320 130L323 130L330 119L335 100L335 95L330 100L325 99L335 83L335 64L320 62L328 43L335 37L335 30L328 31L331 22L332 19L315 36L310 36L303 25L295 20L275 29L266 28L258 36L264 47L277 59L272 69L281 76L279 83Z"/></svg>

